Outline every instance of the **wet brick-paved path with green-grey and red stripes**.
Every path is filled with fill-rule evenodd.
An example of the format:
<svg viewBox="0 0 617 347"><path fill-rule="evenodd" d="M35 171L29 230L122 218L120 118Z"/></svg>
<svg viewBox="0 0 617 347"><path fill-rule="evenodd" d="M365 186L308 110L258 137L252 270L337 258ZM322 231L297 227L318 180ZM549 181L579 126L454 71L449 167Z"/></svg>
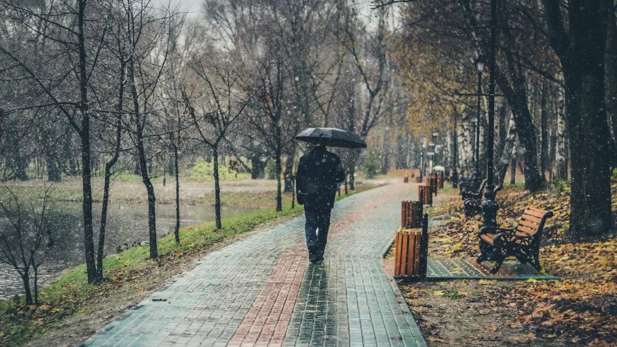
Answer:
<svg viewBox="0 0 617 347"><path fill-rule="evenodd" d="M425 346L380 259L415 187L338 201L320 264L295 217L208 254L83 345Z"/></svg>

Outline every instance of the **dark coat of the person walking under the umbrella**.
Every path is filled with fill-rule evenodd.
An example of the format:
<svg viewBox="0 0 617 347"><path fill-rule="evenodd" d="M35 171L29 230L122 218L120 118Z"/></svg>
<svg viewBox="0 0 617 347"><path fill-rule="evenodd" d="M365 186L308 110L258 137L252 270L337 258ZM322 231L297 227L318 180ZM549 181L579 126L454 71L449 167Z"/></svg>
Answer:
<svg viewBox="0 0 617 347"><path fill-rule="evenodd" d="M300 157L296 172L296 196L300 205L332 208L336 183L345 180L341 158L323 146L315 146Z"/></svg>

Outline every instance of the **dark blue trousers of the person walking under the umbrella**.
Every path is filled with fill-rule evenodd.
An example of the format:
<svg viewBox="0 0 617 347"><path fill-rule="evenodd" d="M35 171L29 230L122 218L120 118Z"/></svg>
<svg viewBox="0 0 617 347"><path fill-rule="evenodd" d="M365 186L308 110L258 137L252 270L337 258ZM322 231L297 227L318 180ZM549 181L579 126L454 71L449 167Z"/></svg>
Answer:
<svg viewBox="0 0 617 347"><path fill-rule="evenodd" d="M328 206L304 204L304 235L307 238L309 254L323 256L328 242L328 229L330 227L330 212Z"/></svg>

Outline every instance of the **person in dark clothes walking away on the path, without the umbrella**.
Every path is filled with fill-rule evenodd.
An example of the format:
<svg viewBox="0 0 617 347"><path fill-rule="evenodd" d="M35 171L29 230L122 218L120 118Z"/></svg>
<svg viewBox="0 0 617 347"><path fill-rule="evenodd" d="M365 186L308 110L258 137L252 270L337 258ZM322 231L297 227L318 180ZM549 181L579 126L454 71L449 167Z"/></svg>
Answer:
<svg viewBox="0 0 617 347"><path fill-rule="evenodd" d="M304 233L312 263L323 261L328 241L330 212L334 207L337 183L345 180L341 158L323 144L300 157L296 172L296 196L304 205Z"/></svg>

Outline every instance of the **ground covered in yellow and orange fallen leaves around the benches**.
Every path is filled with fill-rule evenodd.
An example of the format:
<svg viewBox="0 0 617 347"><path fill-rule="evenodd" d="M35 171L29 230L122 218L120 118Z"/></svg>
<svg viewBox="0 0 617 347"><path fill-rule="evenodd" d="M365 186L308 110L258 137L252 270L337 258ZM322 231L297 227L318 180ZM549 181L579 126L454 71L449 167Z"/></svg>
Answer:
<svg viewBox="0 0 617 347"><path fill-rule="evenodd" d="M615 175L611 191L615 212ZM497 195L501 227L514 227L527 206L555 213L542 235L540 263L545 272L561 280L462 280L400 286L429 344L617 344L617 240L613 235L565 243L569 196L565 183L531 194L510 187ZM429 231L429 257L474 258L481 217L465 219L460 196L432 210L429 213L440 216L444 224Z"/></svg>

